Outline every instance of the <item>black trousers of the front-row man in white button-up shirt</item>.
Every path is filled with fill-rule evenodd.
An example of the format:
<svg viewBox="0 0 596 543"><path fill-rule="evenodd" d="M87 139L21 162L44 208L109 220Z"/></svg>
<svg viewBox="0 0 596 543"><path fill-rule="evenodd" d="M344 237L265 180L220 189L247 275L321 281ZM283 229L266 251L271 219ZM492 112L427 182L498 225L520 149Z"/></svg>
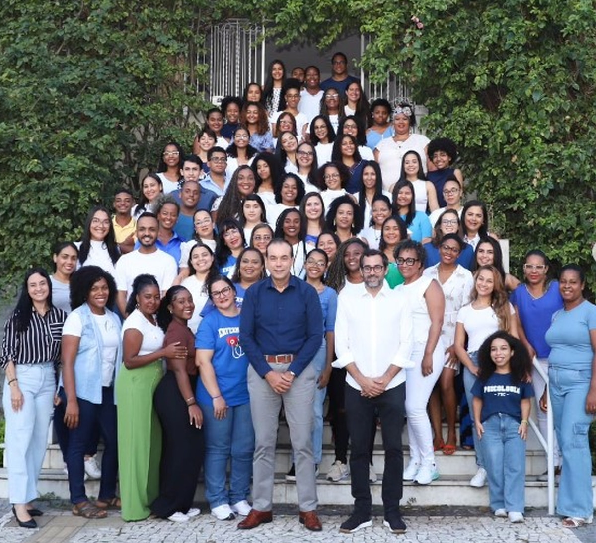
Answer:
<svg viewBox="0 0 596 543"><path fill-rule="evenodd" d="M347 429L352 438L350 472L355 512L370 516L373 500L368 483L371 421L381 419L381 433L385 451L383 472L383 506L385 515L399 513L403 495L402 430L405 416L406 385L402 383L375 398L365 398L360 391L346 383L345 404Z"/></svg>

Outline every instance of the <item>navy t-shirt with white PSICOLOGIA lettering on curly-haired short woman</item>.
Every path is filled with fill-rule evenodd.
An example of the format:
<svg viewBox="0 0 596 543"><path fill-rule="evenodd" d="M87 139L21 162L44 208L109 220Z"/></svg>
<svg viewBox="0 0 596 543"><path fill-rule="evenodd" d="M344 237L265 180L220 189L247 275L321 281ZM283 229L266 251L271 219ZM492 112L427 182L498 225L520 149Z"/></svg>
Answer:
<svg viewBox="0 0 596 543"><path fill-rule="evenodd" d="M480 422L504 413L522 422L522 400L534 397L532 383L513 383L511 373L493 373L486 382L476 379L472 394L482 400Z"/></svg>

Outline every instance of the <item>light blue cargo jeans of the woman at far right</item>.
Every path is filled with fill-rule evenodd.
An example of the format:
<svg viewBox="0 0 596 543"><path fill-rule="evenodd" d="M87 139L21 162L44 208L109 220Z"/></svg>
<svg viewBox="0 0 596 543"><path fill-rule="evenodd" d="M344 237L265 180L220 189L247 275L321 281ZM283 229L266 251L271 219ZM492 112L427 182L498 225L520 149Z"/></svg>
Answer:
<svg viewBox="0 0 596 543"><path fill-rule="evenodd" d="M563 463L557 492L557 513L565 517L592 514L592 460L586 413L591 370L569 370L549 366L550 400L555 431Z"/></svg>

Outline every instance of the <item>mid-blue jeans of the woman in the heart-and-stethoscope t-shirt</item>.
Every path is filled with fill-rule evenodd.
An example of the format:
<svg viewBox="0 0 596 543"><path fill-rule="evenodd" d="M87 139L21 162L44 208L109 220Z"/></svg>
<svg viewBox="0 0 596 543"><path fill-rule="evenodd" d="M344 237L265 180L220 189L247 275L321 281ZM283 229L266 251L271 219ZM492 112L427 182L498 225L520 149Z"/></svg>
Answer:
<svg viewBox="0 0 596 543"><path fill-rule="evenodd" d="M205 498L210 507L234 505L250 494L254 430L250 403L228 407L225 419L213 416L213 405L201 404L205 435ZM229 492L226 467L231 459Z"/></svg>

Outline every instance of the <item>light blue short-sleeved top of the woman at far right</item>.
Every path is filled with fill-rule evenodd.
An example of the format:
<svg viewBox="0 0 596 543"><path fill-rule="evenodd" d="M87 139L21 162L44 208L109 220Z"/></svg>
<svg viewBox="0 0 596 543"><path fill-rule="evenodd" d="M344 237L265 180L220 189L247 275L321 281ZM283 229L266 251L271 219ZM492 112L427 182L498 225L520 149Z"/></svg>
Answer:
<svg viewBox="0 0 596 543"><path fill-rule="evenodd" d="M550 345L548 363L568 370L591 370L590 330L596 329L596 305L584 300L570 311L563 309L552 316L545 339Z"/></svg>

